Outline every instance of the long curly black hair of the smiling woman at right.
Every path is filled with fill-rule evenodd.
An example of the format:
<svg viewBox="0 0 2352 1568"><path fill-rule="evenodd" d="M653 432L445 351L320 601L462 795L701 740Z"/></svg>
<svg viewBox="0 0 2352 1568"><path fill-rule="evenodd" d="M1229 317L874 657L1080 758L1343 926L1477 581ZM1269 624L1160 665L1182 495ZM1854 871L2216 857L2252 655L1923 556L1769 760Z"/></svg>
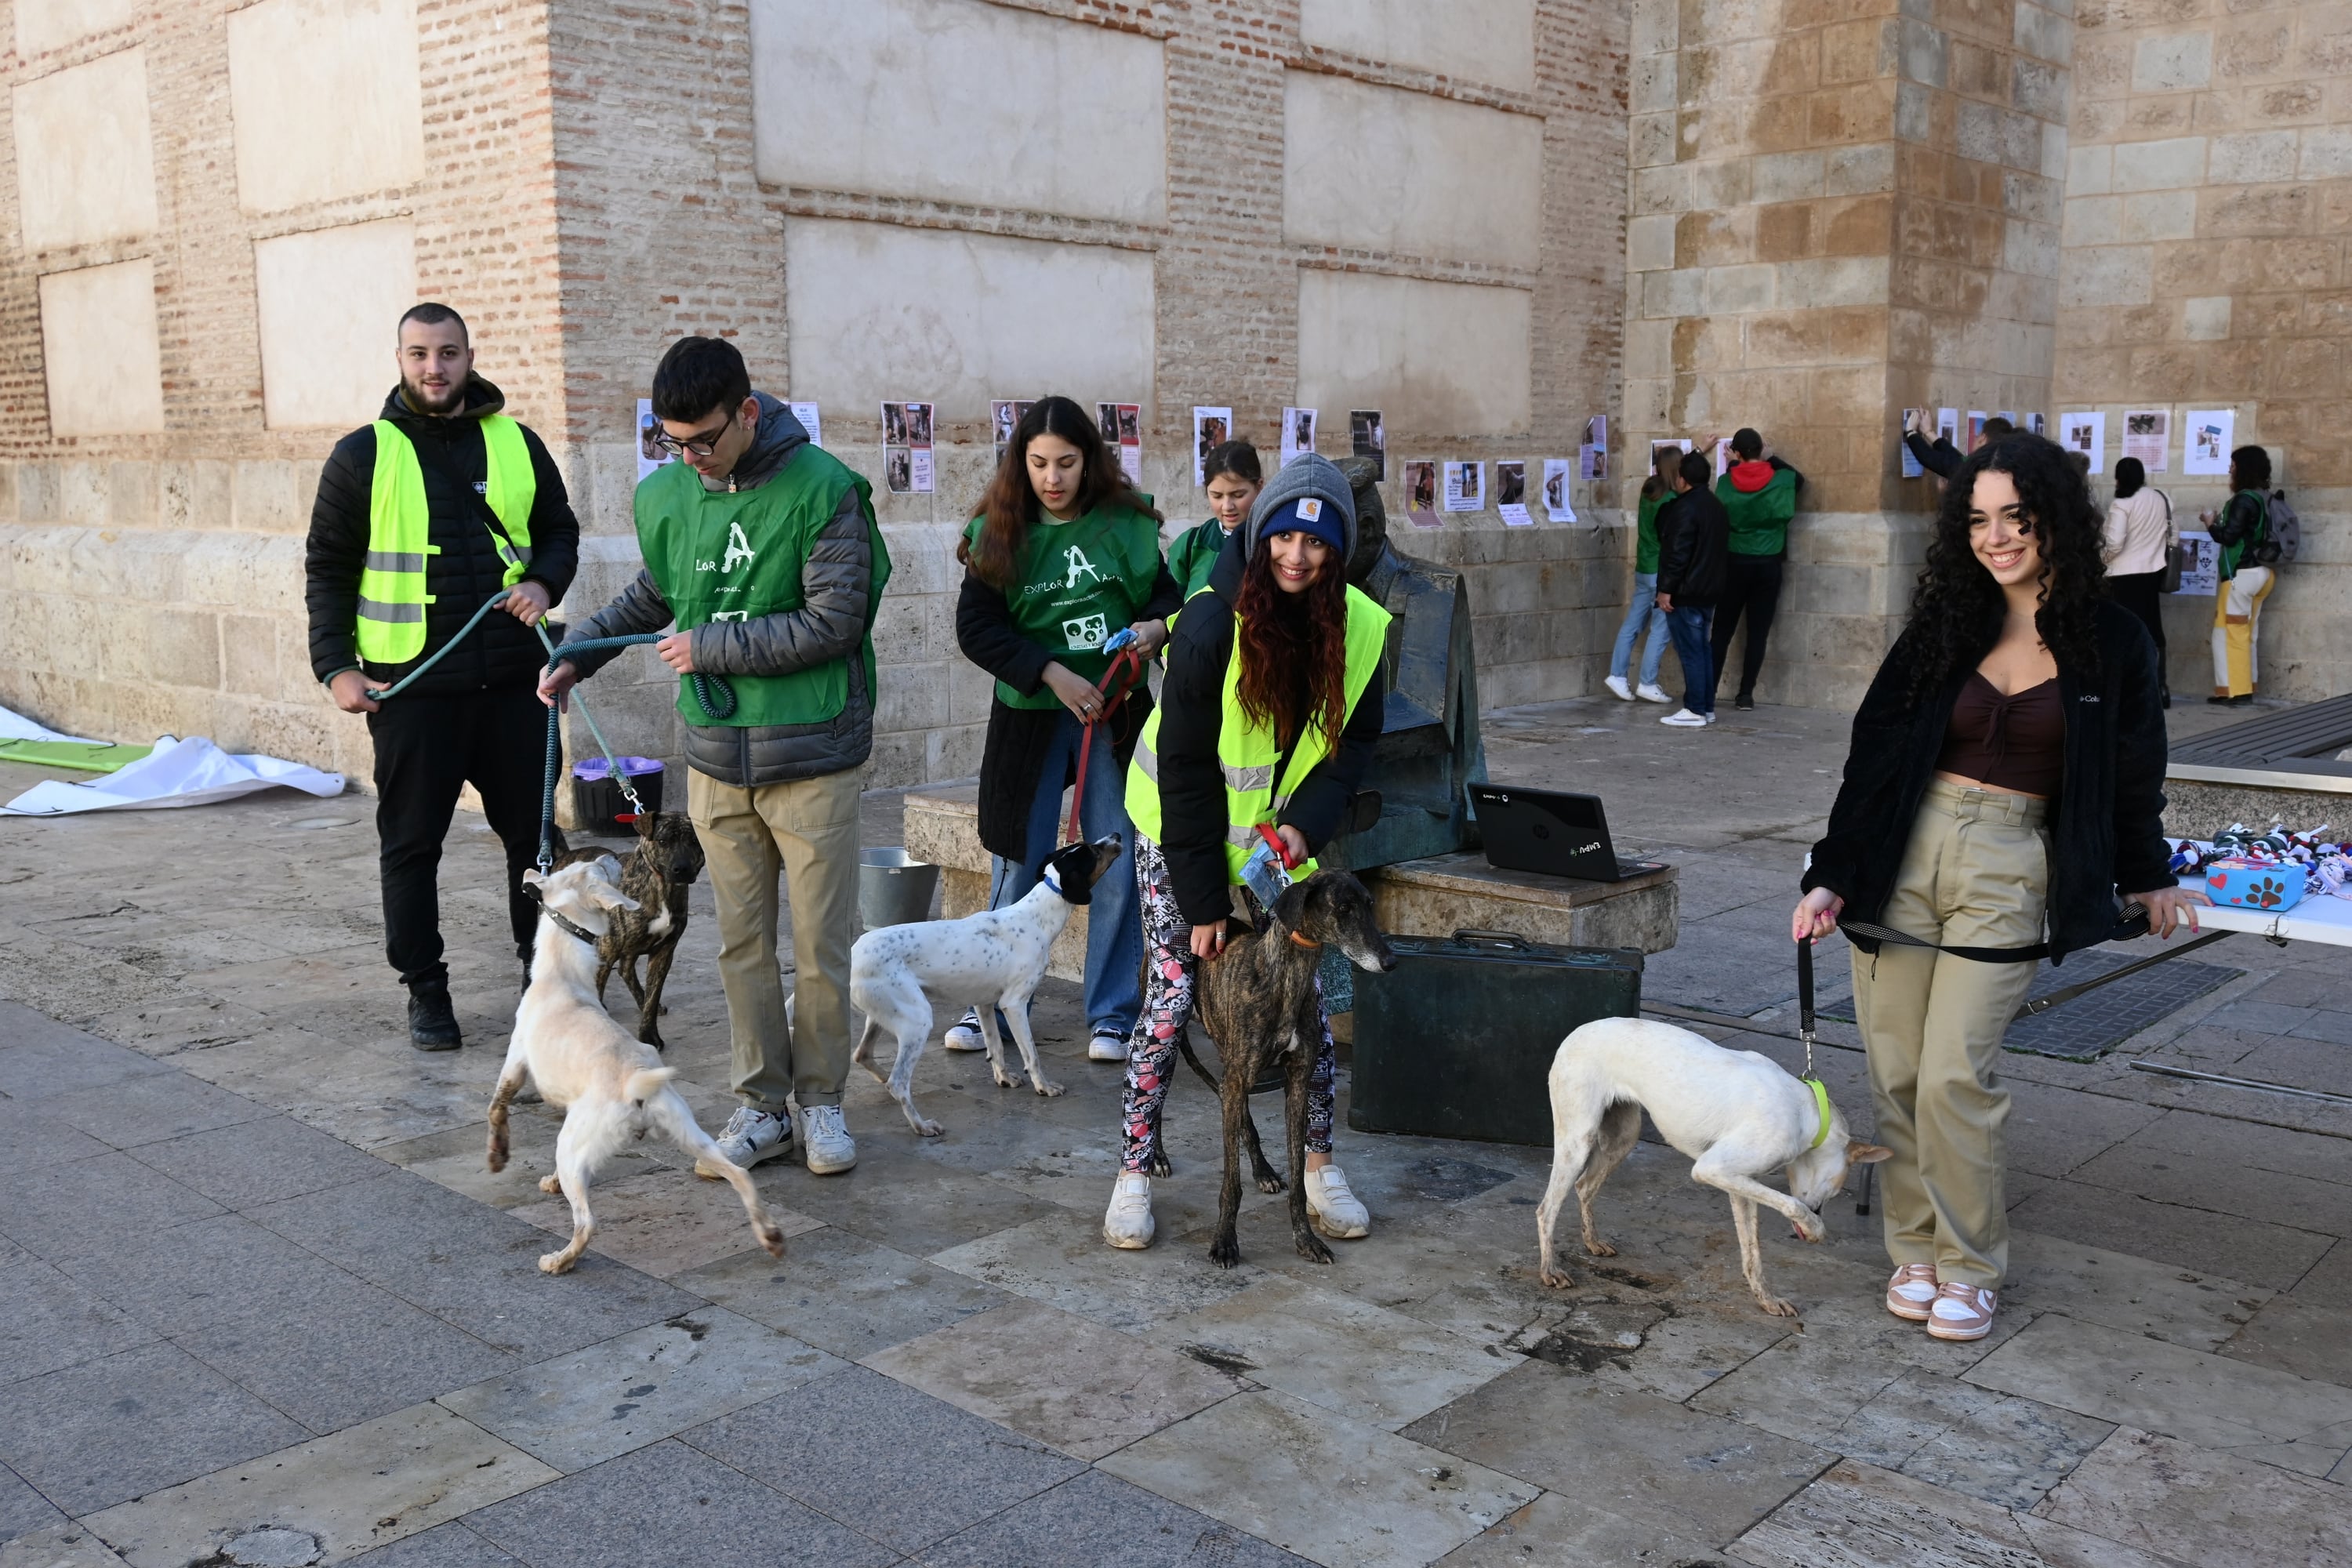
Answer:
<svg viewBox="0 0 2352 1568"><path fill-rule="evenodd" d="M2018 487L2023 520L2042 550L2042 609L2034 630L2058 663L2091 672L2098 668L2093 616L2107 595L2098 557L2098 512L2082 473L2056 442L2039 435L2006 435L1978 447L1952 475L1926 545L1926 567L1912 592L1903 639L1915 644L1910 698L1936 691L1955 670L1973 670L2002 637L2009 599L1969 548L1969 503L1976 475L2004 473Z"/></svg>

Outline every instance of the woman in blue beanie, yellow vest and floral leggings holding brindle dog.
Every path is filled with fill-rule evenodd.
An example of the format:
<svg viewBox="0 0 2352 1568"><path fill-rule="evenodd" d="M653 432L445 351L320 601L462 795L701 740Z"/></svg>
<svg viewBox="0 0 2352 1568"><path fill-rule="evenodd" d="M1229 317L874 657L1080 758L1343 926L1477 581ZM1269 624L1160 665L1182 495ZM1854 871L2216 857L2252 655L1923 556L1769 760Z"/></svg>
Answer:
<svg viewBox="0 0 2352 1568"><path fill-rule="evenodd" d="M1160 1105L1192 1018L1192 978L1225 945L1261 825L1282 839L1291 875L1310 875L1371 766L1388 611L1348 585L1352 552L1348 477L1303 454L1256 498L1240 548L1216 557L1209 590L1176 621L1162 708L1127 773L1150 992L1127 1056L1110 1246L1152 1241ZM1371 1215L1331 1164L1331 1074L1327 1025L1308 1081L1308 1218L1348 1239L1371 1229Z"/></svg>

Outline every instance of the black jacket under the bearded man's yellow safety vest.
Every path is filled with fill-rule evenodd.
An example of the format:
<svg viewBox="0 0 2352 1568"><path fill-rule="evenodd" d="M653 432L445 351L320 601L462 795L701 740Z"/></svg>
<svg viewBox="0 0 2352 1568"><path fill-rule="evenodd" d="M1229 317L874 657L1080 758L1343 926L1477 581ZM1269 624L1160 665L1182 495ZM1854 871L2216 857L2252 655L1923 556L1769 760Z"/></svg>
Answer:
<svg viewBox="0 0 2352 1568"><path fill-rule="evenodd" d="M499 414L506 395L480 376L466 378L466 404L449 418L412 414L395 386L383 400L383 418L416 444L416 465L426 475L426 510L433 517L428 541L440 550L426 557L426 646L428 658L456 635L482 599L499 592L506 562L499 559L492 529L499 517L475 489L489 473L482 447L482 416ZM524 425L522 444L532 454L539 494L532 501L532 569L524 581L539 581L550 602L562 602L579 571L581 524L572 515L564 477L539 435ZM318 475L318 501L310 505L310 541L303 552L303 597L310 607L310 672L334 679L343 670L365 670L372 684L400 679L409 665L360 661L360 569L367 559L367 512L376 482L376 430L362 425L334 444ZM459 693L485 686L536 684L548 656L532 628L503 611L492 611L473 637L449 658L433 665L409 691Z"/></svg>

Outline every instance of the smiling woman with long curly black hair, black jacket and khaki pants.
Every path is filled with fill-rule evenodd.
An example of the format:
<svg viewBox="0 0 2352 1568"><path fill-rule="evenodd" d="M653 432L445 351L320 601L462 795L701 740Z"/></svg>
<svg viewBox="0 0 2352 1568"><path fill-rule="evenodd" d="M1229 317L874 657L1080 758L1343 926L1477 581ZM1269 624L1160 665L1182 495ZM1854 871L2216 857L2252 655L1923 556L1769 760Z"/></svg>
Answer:
<svg viewBox="0 0 2352 1568"><path fill-rule="evenodd" d="M2056 444L2011 435L1952 475L1910 623L1879 665L1790 922L1839 917L1886 1164L1886 1309L1992 1331L2009 1267L2002 1034L2032 959L2107 940L2117 891L2197 929L2164 846L2157 649L2105 597L2100 524Z"/></svg>

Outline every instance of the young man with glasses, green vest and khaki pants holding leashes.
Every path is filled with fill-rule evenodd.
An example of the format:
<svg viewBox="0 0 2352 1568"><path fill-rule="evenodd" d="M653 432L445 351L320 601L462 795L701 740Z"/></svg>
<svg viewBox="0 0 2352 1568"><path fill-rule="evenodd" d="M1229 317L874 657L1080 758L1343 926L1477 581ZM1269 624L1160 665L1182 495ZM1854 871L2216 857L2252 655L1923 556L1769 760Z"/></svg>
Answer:
<svg viewBox="0 0 2352 1568"><path fill-rule="evenodd" d="M734 343L673 343L654 371L654 440L682 461L637 484L644 569L567 642L677 625L654 654L680 675L687 813L717 898L743 1100L720 1147L739 1166L790 1152L797 1105L802 1157L830 1175L858 1161L842 1079L858 769L873 752L873 623L889 550L873 487L814 447L786 404L750 390ZM541 701L560 701L612 658L557 663L539 682ZM689 675L720 677L727 693ZM790 1018L776 973L779 870L793 905Z"/></svg>

